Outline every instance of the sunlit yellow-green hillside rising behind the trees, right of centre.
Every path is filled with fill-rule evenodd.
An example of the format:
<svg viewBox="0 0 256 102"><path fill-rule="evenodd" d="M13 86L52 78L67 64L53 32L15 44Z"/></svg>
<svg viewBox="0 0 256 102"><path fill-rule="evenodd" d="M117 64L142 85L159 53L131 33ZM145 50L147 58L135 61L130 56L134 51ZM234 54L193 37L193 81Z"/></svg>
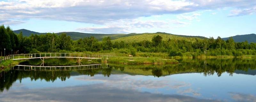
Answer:
<svg viewBox="0 0 256 102"><path fill-rule="evenodd" d="M124 42L140 42L143 40L151 41L155 35L162 36L163 40L168 40L170 38L170 39L180 39L180 40L184 39L184 40L187 40L190 42L196 41L196 37L188 38L188 37L181 37L178 35L173 35L173 34L168 34L168 33L142 33L142 34L137 34L137 35L133 35L133 36L122 37L122 38L119 38L119 39L116 39L113 41L124 41Z"/></svg>

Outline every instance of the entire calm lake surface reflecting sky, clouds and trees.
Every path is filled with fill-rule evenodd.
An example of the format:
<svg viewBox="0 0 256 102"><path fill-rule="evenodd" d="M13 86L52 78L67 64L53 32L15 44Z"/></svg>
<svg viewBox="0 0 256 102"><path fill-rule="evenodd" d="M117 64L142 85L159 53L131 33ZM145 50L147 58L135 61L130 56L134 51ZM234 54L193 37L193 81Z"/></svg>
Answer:
<svg viewBox="0 0 256 102"><path fill-rule="evenodd" d="M255 61L189 59L162 66L108 64L56 69L15 66L0 75L0 101L256 102ZM83 62L79 64L97 63ZM44 66L79 64L76 59L54 59L46 60Z"/></svg>

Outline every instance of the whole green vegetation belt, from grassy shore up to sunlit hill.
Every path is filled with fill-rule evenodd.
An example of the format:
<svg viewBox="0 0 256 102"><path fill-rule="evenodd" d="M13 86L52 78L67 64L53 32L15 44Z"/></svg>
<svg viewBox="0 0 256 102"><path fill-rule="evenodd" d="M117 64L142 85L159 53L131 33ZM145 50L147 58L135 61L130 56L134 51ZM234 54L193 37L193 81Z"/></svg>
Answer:
<svg viewBox="0 0 256 102"><path fill-rule="evenodd" d="M104 35L105 36L105 35ZM111 35L112 36L112 35ZM123 35L122 35L123 36ZM0 49L5 55L40 52L79 52L87 54L116 55L108 62L131 64L177 63L182 57L187 58L252 58L256 55L256 43L235 42L232 37L222 40L220 37L204 38L198 36L178 36L169 33L132 33L130 36L103 37L94 36L72 40L66 33L45 33L23 36L14 33L4 25L0 26ZM133 57L129 57L132 55ZM6 60L6 66L16 63Z"/></svg>

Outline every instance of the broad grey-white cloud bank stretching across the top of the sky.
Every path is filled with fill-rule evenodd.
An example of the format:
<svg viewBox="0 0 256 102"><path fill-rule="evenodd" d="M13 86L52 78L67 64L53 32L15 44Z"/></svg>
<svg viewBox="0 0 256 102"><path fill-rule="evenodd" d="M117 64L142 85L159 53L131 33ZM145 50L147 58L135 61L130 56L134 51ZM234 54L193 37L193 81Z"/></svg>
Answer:
<svg viewBox="0 0 256 102"><path fill-rule="evenodd" d="M10 15L6 19L42 18L102 24L224 7L245 9L255 3L255 0L9 0L0 2L0 12Z"/></svg>

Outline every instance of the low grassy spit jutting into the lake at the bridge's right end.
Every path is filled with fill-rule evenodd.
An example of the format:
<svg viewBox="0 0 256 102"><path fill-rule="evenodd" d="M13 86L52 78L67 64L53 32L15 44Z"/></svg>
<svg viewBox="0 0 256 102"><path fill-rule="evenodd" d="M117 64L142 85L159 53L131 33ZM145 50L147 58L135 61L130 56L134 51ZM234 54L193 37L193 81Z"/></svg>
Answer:
<svg viewBox="0 0 256 102"><path fill-rule="evenodd" d="M159 57L111 57L108 63L119 64L168 64L179 63L177 60L163 59Z"/></svg>

